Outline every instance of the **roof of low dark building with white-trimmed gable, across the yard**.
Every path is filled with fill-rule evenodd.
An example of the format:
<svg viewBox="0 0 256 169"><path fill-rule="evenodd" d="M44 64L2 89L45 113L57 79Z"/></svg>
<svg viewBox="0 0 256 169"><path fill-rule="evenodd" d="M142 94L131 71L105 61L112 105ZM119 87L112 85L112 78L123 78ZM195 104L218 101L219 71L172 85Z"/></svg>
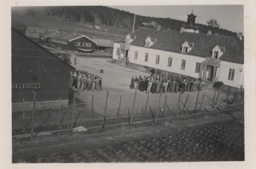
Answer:
<svg viewBox="0 0 256 169"><path fill-rule="evenodd" d="M41 36L47 36L49 38L53 39L59 39L59 40L64 40L64 41L74 41L76 39L86 37L87 39L91 40L92 42L96 43L92 39L88 38L87 36L80 34L80 33L73 33L73 32L55 32L55 31L50 31L44 34L40 34Z"/></svg>

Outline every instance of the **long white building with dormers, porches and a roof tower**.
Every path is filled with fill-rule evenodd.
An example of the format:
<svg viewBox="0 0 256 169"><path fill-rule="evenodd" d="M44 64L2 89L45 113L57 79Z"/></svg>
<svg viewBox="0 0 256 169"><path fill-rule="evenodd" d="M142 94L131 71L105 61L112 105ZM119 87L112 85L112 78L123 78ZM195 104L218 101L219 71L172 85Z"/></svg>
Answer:
<svg viewBox="0 0 256 169"><path fill-rule="evenodd" d="M237 37L199 33L195 15L188 15L181 30L142 28L114 42L113 59L131 66L157 69L161 75L218 80L221 90L238 91L244 85L244 41Z"/></svg>

